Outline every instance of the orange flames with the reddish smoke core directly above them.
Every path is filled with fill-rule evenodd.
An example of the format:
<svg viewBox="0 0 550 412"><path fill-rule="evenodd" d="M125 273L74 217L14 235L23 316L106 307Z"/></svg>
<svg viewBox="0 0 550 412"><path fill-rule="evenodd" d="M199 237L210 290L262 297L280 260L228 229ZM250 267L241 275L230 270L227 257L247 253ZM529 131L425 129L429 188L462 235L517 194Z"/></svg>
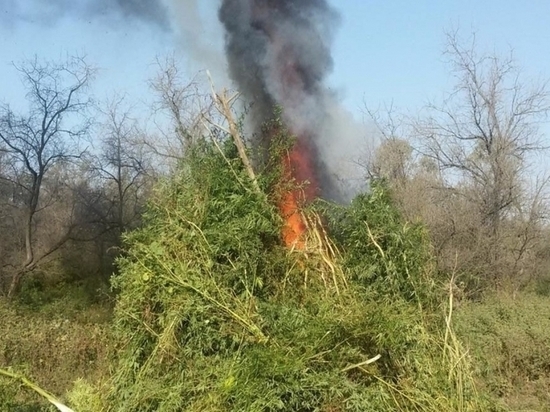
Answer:
<svg viewBox="0 0 550 412"><path fill-rule="evenodd" d="M319 195L314 161L316 152L310 144L315 125L305 131L303 127L292 130L289 119L293 108L303 107L311 97L311 86L315 84L317 74L308 73L309 65L304 64L301 49L296 47L295 39L285 32L286 26L280 24L285 13L291 10L288 4L283 3L280 0L248 0L251 27L259 33L259 38L265 36L262 40L267 40L270 50L270 64L264 68L265 90L268 90L270 99L287 110L284 113L286 126L298 135L296 143L282 159L283 179L293 182L297 188L283 194L279 209L285 220L282 230L284 243L288 247L304 249L307 225L301 208Z"/></svg>

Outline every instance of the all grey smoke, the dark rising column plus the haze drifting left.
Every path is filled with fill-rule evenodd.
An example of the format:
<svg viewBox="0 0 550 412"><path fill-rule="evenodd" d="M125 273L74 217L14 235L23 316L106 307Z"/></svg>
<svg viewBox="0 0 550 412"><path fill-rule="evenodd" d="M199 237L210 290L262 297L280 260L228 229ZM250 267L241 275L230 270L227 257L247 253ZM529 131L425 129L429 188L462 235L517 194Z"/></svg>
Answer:
<svg viewBox="0 0 550 412"><path fill-rule="evenodd" d="M352 153L359 152L362 130L326 86L333 68L332 40L340 22L327 0L0 2L2 24L31 20L51 25L63 17L76 17L104 23L141 21L172 32L194 62L192 70L209 69L217 86L227 85L227 77L233 81L251 105L248 119L256 132L274 107L281 106L293 133L311 140L325 195L341 198L336 182L351 173L347 163ZM218 19L213 8L218 8ZM297 87L288 87L286 64L293 65ZM256 141L258 146L263 143Z"/></svg>

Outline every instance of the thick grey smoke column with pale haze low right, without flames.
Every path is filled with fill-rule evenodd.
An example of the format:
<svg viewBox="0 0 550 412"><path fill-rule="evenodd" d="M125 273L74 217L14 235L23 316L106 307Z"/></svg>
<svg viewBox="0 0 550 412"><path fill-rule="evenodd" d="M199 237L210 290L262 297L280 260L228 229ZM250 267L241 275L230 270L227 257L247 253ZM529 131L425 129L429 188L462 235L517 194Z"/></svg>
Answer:
<svg viewBox="0 0 550 412"><path fill-rule="evenodd" d="M353 169L346 150L360 131L326 86L338 13L326 0L223 0L218 15L229 73L252 105L256 130L282 107L285 123L312 147L323 195L345 200L341 179Z"/></svg>

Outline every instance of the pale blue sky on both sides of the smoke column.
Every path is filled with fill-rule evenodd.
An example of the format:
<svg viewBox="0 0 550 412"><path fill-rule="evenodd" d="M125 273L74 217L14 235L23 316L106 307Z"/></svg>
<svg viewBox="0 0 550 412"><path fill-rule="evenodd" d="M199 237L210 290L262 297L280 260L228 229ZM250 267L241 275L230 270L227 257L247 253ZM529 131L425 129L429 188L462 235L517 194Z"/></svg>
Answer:
<svg viewBox="0 0 550 412"><path fill-rule="evenodd" d="M198 35L208 31L208 41L219 49L221 33L214 27L218 2L201 2L204 26ZM330 2L342 21L336 31L334 72L328 83L359 119L364 102L371 107L393 102L400 110L415 112L427 100L449 91L452 83L442 57L444 32L456 27L465 36L476 31L482 50L514 49L526 75L550 78L548 0ZM100 68L94 86L100 99L116 91L135 101L151 98L146 80L154 74L156 56L176 53L186 60L186 43L168 30L135 20L70 13L59 19L53 14L42 20L22 18L13 13L15 3L20 11L48 4L47 0L2 0L0 100L12 105L22 103L22 91L10 63L34 54L53 59L85 54ZM189 77L208 68L189 59L187 63Z"/></svg>

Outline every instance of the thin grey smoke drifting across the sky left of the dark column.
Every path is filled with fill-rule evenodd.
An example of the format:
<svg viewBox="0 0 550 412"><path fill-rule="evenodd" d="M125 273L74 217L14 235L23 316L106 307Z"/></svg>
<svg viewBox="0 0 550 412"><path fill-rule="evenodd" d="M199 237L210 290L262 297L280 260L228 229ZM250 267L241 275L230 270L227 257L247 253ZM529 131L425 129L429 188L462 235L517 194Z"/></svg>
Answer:
<svg viewBox="0 0 550 412"><path fill-rule="evenodd" d="M191 72L209 69L216 84L228 85L223 33L215 13L220 0L0 0L0 23L44 24L63 18L125 27L137 21L170 32ZM204 10L201 14L201 6ZM204 7L207 6L207 7Z"/></svg>

